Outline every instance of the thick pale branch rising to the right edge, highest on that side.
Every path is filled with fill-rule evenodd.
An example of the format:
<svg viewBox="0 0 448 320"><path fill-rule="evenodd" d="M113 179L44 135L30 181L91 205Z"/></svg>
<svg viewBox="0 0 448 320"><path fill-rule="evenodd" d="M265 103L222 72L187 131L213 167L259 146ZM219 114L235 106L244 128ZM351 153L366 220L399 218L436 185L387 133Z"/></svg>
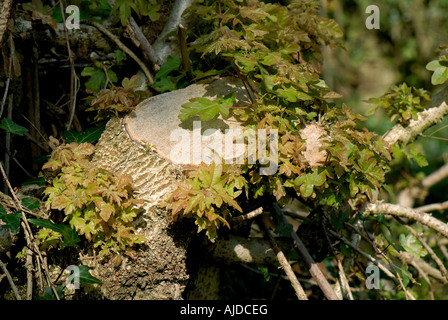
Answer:
<svg viewBox="0 0 448 320"><path fill-rule="evenodd" d="M409 126L404 128L401 124L395 125L384 137L384 140L393 145L398 141L408 144L415 140L426 129L442 121L448 114L448 88L443 89L431 99L431 108L418 113L417 120L411 120Z"/></svg>

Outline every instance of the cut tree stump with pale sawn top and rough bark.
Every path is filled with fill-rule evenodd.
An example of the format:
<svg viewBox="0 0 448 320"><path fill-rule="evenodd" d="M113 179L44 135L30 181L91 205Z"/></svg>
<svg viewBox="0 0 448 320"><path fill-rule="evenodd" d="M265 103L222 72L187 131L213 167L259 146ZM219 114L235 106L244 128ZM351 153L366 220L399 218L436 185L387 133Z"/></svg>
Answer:
<svg viewBox="0 0 448 320"><path fill-rule="evenodd" d="M236 78L210 79L185 89L157 95L141 102L123 118L111 119L95 147L93 161L101 168L133 179L137 197L145 200L135 221L135 229L147 241L131 255L102 261L96 275L102 280L105 299L181 299L189 279L187 249L197 235L192 223L170 224L169 213L160 204L183 179L183 169L195 165L188 159L172 158L173 131L193 134L193 121L182 123L181 105L196 97L223 97L237 92L237 102L246 101L246 92ZM238 128L233 118L201 122L207 128ZM180 131L179 131L180 130ZM183 131L182 131L183 130ZM225 139L225 136L222 135ZM182 145L190 148L191 145ZM193 157L193 155L191 155Z"/></svg>

